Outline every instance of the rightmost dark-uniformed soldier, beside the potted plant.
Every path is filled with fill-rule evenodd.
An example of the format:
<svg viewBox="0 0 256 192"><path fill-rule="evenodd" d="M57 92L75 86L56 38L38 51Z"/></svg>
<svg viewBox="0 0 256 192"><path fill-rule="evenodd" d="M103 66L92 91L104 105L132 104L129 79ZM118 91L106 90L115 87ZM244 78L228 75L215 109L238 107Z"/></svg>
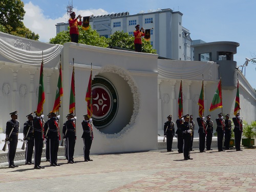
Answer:
<svg viewBox="0 0 256 192"><path fill-rule="evenodd" d="M239 113L237 113L236 117L233 117L232 120L234 122L234 144L237 151L242 151L240 148L240 143L243 133L243 120L240 118Z"/></svg>

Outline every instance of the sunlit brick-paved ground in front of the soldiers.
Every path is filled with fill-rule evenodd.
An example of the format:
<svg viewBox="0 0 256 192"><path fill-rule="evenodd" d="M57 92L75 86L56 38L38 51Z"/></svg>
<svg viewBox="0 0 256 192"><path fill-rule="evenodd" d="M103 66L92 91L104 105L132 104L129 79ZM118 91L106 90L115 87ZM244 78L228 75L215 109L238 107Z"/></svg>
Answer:
<svg viewBox="0 0 256 192"><path fill-rule="evenodd" d="M0 168L0 190L8 191L256 191L256 150L183 154L150 151L94 155L92 162L59 160L59 167ZM2 165L3 166L3 165Z"/></svg>

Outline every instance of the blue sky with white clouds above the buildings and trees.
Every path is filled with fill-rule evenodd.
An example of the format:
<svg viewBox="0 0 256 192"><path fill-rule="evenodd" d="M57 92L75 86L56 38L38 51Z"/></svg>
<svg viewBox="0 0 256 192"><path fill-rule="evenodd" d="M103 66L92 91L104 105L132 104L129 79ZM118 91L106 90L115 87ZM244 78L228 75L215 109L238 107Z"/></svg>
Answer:
<svg viewBox="0 0 256 192"><path fill-rule="evenodd" d="M39 34L39 41L48 42L50 38L55 37L55 25L65 23L69 19L66 7L72 0L24 0L23 2L26 11L23 22L27 28ZM183 14L182 26L189 30L192 40L239 42L237 54L234 55L238 66L244 65L246 57L249 59L256 57L255 7L255 0L73 1L73 11L82 16L126 11L132 15L158 8L180 11ZM249 62L245 72L246 79L252 88L256 89L256 65Z"/></svg>

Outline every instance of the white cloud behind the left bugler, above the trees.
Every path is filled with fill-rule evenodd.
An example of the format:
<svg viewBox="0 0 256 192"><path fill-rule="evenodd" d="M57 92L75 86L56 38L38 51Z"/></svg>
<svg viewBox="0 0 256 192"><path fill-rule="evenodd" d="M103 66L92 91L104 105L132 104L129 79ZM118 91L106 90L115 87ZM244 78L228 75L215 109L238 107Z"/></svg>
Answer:
<svg viewBox="0 0 256 192"><path fill-rule="evenodd" d="M26 14L24 16L23 23L31 31L39 35L39 41L48 42L50 38L56 36L56 24L66 23L69 19L69 15L64 14L56 19L51 19L47 15L44 15L44 11L33 5L31 2L24 5L24 10ZM92 9L92 10L77 10L73 9L77 15L89 16L89 15L105 15L108 14L103 9Z"/></svg>

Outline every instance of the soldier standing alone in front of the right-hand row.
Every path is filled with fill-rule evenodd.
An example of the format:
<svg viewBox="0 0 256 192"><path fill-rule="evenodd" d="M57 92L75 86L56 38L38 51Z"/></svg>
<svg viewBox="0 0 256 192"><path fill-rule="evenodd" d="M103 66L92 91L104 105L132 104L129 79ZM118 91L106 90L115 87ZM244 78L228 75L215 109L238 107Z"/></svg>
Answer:
<svg viewBox="0 0 256 192"><path fill-rule="evenodd" d="M189 115L183 116L185 122L181 124L181 131L183 134L183 139L184 139L184 148L183 148L183 155L184 155L184 160L188 159L193 159L190 158L190 144L191 144L191 135L192 135L192 130L191 130L191 123L189 122Z"/></svg>

